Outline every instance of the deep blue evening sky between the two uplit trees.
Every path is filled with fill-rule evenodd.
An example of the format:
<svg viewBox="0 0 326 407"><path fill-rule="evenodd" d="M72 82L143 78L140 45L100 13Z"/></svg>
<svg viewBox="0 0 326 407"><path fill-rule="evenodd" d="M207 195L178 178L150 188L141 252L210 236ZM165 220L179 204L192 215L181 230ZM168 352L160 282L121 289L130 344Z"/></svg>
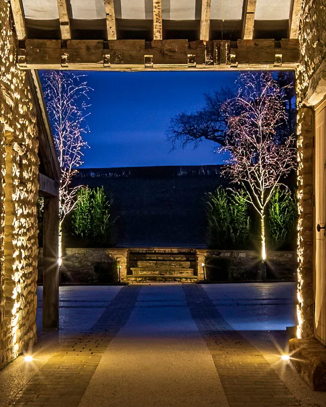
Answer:
<svg viewBox="0 0 326 407"><path fill-rule="evenodd" d="M85 72L83 72L85 73ZM204 93L233 86L237 72L87 72L90 133L83 167L220 164L214 143L170 153L166 130L180 112L204 105Z"/></svg>

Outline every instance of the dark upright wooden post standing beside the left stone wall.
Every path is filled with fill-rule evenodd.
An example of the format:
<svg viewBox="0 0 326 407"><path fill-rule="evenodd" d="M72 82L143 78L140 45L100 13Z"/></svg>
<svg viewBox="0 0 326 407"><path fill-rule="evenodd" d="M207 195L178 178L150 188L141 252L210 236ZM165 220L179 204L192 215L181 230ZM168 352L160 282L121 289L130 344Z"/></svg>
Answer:
<svg viewBox="0 0 326 407"><path fill-rule="evenodd" d="M59 197L44 197L43 329L59 328Z"/></svg>

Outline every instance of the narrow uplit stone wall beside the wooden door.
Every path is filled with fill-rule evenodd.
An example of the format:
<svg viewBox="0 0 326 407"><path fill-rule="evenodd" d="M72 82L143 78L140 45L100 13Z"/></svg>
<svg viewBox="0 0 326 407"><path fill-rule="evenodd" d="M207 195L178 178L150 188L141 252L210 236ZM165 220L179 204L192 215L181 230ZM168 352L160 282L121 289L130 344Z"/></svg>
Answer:
<svg viewBox="0 0 326 407"><path fill-rule="evenodd" d="M300 64L296 71L298 145L298 307L297 336L314 336L313 290L313 108L326 93L326 5L303 0Z"/></svg>

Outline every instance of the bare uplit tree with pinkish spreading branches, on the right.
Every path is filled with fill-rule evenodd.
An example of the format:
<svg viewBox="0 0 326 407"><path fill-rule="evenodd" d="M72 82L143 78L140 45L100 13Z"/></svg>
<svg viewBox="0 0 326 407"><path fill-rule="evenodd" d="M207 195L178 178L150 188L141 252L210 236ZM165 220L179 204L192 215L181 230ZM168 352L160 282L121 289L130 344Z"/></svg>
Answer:
<svg viewBox="0 0 326 407"><path fill-rule="evenodd" d="M265 216L268 202L284 177L296 166L293 134L278 132L287 121L286 88L268 72L243 73L236 97L227 100L223 114L224 146L230 159L224 173L246 189L261 226L261 257L266 259Z"/></svg>

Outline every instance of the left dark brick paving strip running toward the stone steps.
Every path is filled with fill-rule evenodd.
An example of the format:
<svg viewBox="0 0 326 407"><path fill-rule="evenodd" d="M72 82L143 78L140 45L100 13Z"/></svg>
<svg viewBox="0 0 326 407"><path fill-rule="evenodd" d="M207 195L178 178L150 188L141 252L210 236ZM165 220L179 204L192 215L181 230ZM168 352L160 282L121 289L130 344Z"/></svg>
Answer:
<svg viewBox="0 0 326 407"><path fill-rule="evenodd" d="M63 338L58 352L18 393L12 405L77 407L107 346L128 321L139 290L140 286L121 288L91 332Z"/></svg>

